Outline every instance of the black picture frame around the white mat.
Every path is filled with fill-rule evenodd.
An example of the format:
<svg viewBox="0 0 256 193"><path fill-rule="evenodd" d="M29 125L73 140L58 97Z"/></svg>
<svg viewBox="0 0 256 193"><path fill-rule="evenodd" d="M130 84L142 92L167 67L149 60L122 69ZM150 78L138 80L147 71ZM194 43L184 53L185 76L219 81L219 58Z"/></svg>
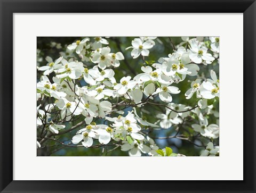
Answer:
<svg viewBox="0 0 256 193"><path fill-rule="evenodd" d="M256 192L254 0L17 1L1 0L0 191L1 192ZM13 180L13 13L243 13L244 180L243 181L14 181ZM241 64L242 65L242 64ZM234 155L241 156L241 154ZM29 170L29 169L28 169ZM209 172L209 171L208 171ZM234 171L236 172L236 171ZM171 174L170 174L171 175ZM220 174L221 175L221 174ZM127 186L129 184L129 186Z"/></svg>

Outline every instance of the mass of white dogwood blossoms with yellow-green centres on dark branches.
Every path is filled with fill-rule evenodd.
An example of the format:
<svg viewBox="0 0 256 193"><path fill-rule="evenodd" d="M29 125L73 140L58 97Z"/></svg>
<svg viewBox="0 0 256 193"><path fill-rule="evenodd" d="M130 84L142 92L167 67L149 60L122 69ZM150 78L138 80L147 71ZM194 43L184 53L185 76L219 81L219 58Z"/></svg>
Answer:
<svg viewBox="0 0 256 193"><path fill-rule="evenodd" d="M120 80L115 78L115 69L122 68L125 57L121 50L111 52L107 39L76 40L66 46L66 52L60 52L60 57L47 56L45 65L38 66L37 126L43 132L37 147L45 136L59 135L67 130L68 122L81 118L83 128L70 139L72 144L90 148L94 141L100 145L112 143L130 156L159 156L158 145L148 131L182 125L188 118L195 121L191 124L195 133L210 140L219 137L218 123L209 124L208 119L210 115L219 119L213 104L219 100L220 81L214 70L210 70L211 79L198 74L201 66L218 60L219 37L182 37L183 42L174 46L172 53L151 64L145 57L157 45L157 37L134 38L126 52L132 48L131 57L135 60L141 56L144 63L140 73ZM185 81L190 88L181 96L179 84ZM173 103L178 94L187 100L194 97L197 104ZM147 104L157 105L156 101L165 107L165 112L156 115L157 121L148 121L137 113ZM123 111L122 107L133 108ZM212 144L208 146L213 149Z"/></svg>

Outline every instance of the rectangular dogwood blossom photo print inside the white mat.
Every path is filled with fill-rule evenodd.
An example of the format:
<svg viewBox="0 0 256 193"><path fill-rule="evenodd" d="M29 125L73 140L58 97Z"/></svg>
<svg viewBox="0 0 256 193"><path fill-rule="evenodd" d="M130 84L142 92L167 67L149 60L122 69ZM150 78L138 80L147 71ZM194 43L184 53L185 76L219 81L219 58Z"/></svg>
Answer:
<svg viewBox="0 0 256 193"><path fill-rule="evenodd" d="M38 156L219 156L219 37L38 37Z"/></svg>

